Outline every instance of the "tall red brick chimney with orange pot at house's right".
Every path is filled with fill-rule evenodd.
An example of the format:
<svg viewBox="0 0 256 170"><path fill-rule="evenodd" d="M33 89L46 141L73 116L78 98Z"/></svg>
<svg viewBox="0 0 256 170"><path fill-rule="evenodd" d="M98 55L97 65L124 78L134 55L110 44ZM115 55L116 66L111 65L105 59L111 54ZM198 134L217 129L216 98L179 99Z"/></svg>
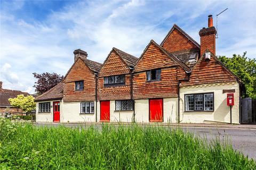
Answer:
<svg viewBox="0 0 256 170"><path fill-rule="evenodd" d="M213 27L213 19L212 15L208 16L208 28L203 28L199 31L200 41L201 41L201 50L200 56L205 53L205 50L208 49L215 55L216 43L215 43L215 35L217 31L215 27Z"/></svg>

